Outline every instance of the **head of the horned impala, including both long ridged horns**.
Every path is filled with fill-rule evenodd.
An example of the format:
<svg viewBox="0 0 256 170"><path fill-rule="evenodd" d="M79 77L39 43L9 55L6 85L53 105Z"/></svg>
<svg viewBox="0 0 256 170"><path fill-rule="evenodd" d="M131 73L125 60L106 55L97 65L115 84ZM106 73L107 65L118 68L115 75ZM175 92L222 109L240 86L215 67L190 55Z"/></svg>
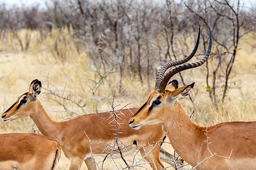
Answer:
<svg viewBox="0 0 256 170"><path fill-rule="evenodd" d="M164 65L160 67L158 74L156 75L155 90L149 95L146 103L142 105L139 111L135 113L133 117L130 118L129 125L131 126L131 128L139 129L142 126L148 125L163 125L163 123L167 121L164 120L164 118L167 117L164 116L164 114L172 114L179 112L179 110L182 107L178 99L180 97L187 96L189 92L192 90L195 83L178 88L177 80L172 80L169 84L168 81L171 79L172 76L179 73L180 71L201 66L205 61L207 61L207 58L209 57L210 54L210 49L212 48L211 31L208 49L204 57L200 61L184 64L185 62L189 61L189 59L191 59L193 56L195 56L196 50L199 46L199 39L200 28L197 36L196 45L191 54L189 54L187 57L183 59L164 63ZM166 73L167 69L173 66L176 67L172 68L170 71ZM168 117L170 116L175 115L168 115Z"/></svg>

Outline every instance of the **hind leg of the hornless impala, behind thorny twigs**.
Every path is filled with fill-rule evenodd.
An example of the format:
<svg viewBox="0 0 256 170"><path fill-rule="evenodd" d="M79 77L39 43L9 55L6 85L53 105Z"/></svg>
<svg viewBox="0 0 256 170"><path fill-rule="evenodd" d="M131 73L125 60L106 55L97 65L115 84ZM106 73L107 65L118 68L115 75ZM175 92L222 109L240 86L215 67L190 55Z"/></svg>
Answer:
<svg viewBox="0 0 256 170"><path fill-rule="evenodd" d="M164 166L160 161L159 157L160 146L156 146L154 150L152 150L152 146L144 146L144 149L141 149L141 155L145 156L144 158L147 162L150 163L152 169L163 169Z"/></svg>

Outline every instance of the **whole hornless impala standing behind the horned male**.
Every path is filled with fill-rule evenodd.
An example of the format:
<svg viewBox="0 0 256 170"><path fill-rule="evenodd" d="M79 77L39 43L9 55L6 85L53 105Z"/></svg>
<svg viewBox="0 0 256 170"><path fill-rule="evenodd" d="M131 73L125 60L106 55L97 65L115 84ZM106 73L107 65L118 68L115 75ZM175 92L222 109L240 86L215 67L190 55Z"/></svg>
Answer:
<svg viewBox="0 0 256 170"><path fill-rule="evenodd" d="M29 92L18 97L18 100L2 114L2 120L10 122L29 116L43 135L58 139L65 156L71 159L69 169L78 169L82 162L85 162L88 169L96 169L92 154L105 157L112 151L106 146L112 144L117 137L112 113L85 114L64 122L53 121L38 99L41 88L42 83L37 79L33 80ZM140 150L141 155L150 162L153 169L161 169L163 165L159 158L160 146L157 142L162 140L165 133L161 125L148 126L139 131L131 129L127 122L137 111L137 108L117 111L120 125L118 137L128 146L122 149L122 155L132 154L138 147L144 147ZM150 143L153 144L148 145ZM115 158L118 156L120 158L121 155L116 153ZM169 159L174 160L172 155Z"/></svg>

